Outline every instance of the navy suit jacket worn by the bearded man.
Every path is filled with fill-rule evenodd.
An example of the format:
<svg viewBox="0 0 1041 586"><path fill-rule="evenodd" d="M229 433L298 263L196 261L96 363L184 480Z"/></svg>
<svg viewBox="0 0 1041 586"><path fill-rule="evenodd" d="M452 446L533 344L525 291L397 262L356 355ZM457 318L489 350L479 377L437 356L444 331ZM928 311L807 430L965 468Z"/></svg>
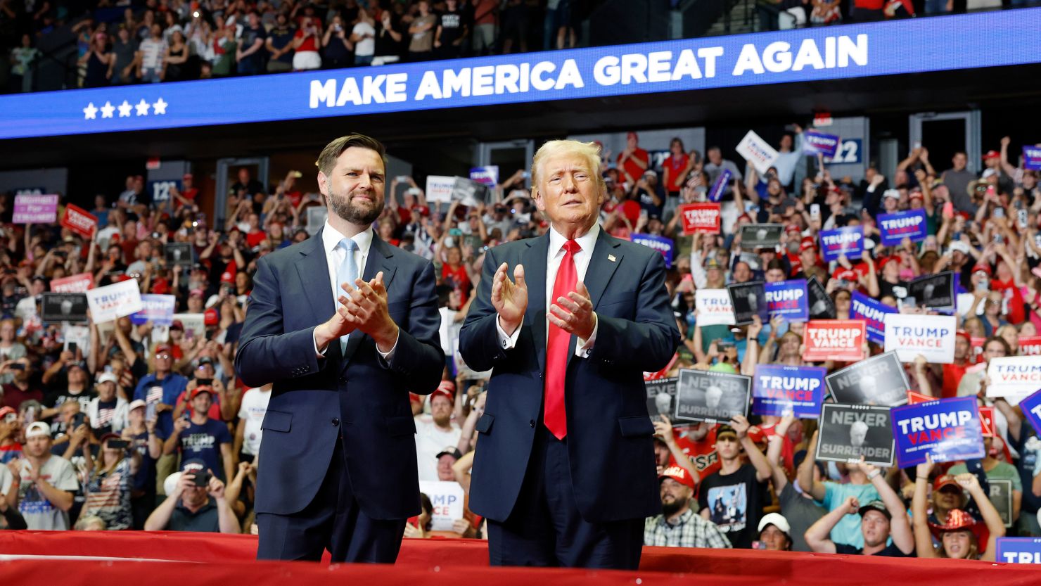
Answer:
<svg viewBox="0 0 1041 586"><path fill-rule="evenodd" d="M373 237L362 278L383 272L390 317L400 328L387 364L360 331L346 352L314 354L314 327L332 316L322 233L257 262L235 371L246 384L273 382L262 429L256 511L306 507L342 434L351 488L373 518L420 512L415 424L409 391L429 394L445 367L434 271L429 260Z"/></svg>

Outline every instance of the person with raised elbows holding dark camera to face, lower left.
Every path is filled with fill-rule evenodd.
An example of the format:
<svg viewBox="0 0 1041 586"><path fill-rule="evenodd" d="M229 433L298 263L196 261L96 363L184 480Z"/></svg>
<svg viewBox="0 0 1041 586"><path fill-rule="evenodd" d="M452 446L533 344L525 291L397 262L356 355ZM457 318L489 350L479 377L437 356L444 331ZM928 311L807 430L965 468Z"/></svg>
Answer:
<svg viewBox="0 0 1041 586"><path fill-rule="evenodd" d="M224 496L224 483L205 462L191 459L167 500L145 521L145 531L238 533L238 520Z"/></svg>

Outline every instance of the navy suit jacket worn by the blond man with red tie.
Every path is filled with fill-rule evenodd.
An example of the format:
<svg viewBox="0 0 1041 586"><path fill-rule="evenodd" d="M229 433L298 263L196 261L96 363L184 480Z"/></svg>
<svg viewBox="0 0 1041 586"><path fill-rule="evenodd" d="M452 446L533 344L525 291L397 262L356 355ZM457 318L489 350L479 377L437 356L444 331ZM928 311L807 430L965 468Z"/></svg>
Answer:
<svg viewBox="0 0 1041 586"><path fill-rule="evenodd" d="M509 243L486 253L478 297L459 333L459 351L475 371L491 370L471 479L471 509L505 521L524 482L541 426L545 372L545 271L550 237ZM490 300L496 269L519 263L528 309L516 346L503 350ZM568 349L565 382L567 455L579 512L588 521L661 512L654 426L643 372L659 371L680 343L665 290L661 253L601 231L585 284L596 311L596 340L586 358Z"/></svg>

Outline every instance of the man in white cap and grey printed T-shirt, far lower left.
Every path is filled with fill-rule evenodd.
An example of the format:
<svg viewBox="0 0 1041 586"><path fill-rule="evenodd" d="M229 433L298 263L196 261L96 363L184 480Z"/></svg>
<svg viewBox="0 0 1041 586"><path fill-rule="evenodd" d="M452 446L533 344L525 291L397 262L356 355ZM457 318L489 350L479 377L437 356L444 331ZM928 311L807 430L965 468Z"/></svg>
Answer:
<svg viewBox="0 0 1041 586"><path fill-rule="evenodd" d="M35 422L26 428L23 452L25 458L11 462L19 474L7 491L7 506L18 507L29 529L68 530L79 482L72 463L51 454L51 427Z"/></svg>

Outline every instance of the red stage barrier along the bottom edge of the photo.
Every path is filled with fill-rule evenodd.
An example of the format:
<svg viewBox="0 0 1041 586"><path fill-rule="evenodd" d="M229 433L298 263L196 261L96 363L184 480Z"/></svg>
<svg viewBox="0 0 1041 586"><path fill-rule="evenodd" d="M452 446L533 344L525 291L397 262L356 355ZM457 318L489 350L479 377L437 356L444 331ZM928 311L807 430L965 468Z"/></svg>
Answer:
<svg viewBox="0 0 1041 586"><path fill-rule="evenodd" d="M0 531L0 577L5 584L62 586L1041 584L1041 567L1033 565L750 550L644 547L638 571L490 568L485 543L472 539L406 539L396 566L257 562L255 551L249 535Z"/></svg>

